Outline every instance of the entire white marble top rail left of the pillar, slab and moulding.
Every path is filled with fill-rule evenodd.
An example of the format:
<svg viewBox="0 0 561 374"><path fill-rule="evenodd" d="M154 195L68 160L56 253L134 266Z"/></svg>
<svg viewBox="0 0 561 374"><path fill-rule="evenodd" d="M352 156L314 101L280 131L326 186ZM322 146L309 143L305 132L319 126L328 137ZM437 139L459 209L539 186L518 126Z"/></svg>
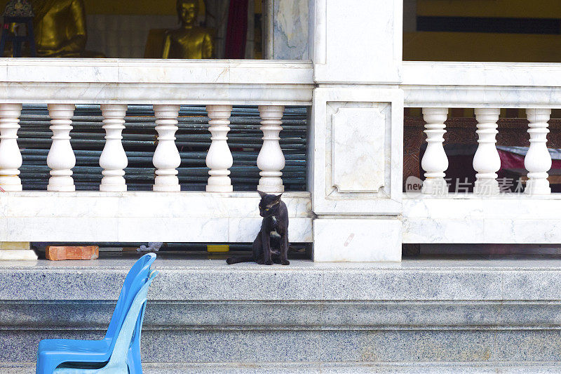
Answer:
<svg viewBox="0 0 561 374"><path fill-rule="evenodd" d="M0 102L310 105L309 61L0 58Z"/></svg>

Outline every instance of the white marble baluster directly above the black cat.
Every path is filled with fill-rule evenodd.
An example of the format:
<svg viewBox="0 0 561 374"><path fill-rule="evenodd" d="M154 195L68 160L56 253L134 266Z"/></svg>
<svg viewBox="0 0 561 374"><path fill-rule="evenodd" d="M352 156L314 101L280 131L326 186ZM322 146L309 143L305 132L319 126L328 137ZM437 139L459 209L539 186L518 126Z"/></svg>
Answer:
<svg viewBox="0 0 561 374"><path fill-rule="evenodd" d="M285 156L280 149L279 133L283 130L283 112L285 107L281 105L259 105L259 116L261 116L261 131L263 131L263 147L257 156L257 167L261 172L257 189L261 192L278 193L284 192L283 173L280 171L285 167Z"/></svg>

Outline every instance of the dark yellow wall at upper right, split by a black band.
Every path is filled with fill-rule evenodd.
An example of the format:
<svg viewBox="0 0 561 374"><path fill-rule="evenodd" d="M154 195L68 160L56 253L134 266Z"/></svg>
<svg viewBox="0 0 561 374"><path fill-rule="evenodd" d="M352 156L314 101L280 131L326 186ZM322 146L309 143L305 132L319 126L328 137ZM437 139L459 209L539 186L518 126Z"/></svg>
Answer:
<svg viewBox="0 0 561 374"><path fill-rule="evenodd" d="M417 0L417 15L561 18L561 0ZM561 62L561 35L407 32L403 34L403 59Z"/></svg>

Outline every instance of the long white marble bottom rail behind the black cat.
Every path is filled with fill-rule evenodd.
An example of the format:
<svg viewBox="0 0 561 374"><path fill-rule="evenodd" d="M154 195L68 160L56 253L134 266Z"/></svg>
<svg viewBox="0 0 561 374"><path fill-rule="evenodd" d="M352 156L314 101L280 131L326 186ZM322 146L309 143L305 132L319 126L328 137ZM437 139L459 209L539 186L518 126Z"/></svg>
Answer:
<svg viewBox="0 0 561 374"><path fill-rule="evenodd" d="M6 192L0 241L252 242L257 192ZM289 240L312 241L309 192L287 192Z"/></svg>

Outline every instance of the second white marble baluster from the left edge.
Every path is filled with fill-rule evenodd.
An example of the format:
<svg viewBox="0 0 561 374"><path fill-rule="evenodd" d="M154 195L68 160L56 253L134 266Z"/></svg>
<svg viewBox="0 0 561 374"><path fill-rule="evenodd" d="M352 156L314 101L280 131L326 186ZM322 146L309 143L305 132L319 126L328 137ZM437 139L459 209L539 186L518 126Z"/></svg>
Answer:
<svg viewBox="0 0 561 374"><path fill-rule="evenodd" d="M76 190L72 179L76 157L70 145L74 104L49 104L48 114L51 118L53 144L50 145L47 156L47 165L51 169L47 190L72 192Z"/></svg>

